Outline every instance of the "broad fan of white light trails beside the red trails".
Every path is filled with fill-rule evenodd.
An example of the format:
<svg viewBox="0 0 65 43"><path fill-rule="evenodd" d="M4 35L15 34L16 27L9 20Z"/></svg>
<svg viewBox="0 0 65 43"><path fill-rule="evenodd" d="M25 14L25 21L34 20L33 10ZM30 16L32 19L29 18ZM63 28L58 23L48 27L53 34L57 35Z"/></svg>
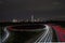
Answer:
<svg viewBox="0 0 65 43"><path fill-rule="evenodd" d="M36 40L35 43L40 43L40 42L43 42L43 43L50 42L51 43L52 42L52 34L53 34L52 29L48 25L44 25L44 26L46 26L46 28L43 28L43 29L46 29L46 31L42 33L42 35L40 35Z"/></svg>

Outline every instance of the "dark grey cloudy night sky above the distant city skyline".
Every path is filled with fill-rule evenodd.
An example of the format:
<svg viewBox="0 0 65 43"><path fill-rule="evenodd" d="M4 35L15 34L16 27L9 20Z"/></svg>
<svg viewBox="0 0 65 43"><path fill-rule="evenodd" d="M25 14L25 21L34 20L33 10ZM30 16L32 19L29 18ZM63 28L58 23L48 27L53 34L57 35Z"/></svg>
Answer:
<svg viewBox="0 0 65 43"><path fill-rule="evenodd" d="M0 0L0 20L13 18L65 19L65 0Z"/></svg>

